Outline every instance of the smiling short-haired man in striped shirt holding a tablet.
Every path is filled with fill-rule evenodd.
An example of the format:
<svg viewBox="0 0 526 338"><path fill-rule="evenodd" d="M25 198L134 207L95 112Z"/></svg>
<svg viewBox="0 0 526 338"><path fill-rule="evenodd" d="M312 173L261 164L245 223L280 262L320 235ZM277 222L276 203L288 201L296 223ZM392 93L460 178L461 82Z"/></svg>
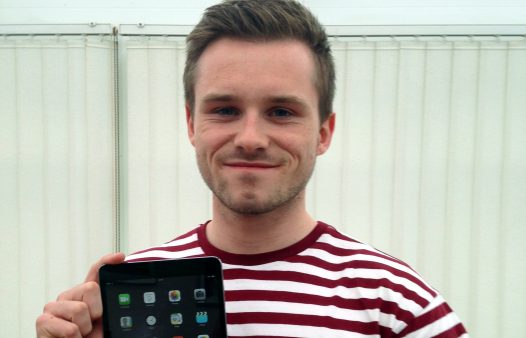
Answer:
<svg viewBox="0 0 526 338"><path fill-rule="evenodd" d="M188 136L214 193L213 218L128 261L211 255L223 262L230 337L467 336L403 262L316 222L305 186L331 143L334 64L302 5L233 0L187 40ZM46 305L39 337L101 337L97 281Z"/></svg>

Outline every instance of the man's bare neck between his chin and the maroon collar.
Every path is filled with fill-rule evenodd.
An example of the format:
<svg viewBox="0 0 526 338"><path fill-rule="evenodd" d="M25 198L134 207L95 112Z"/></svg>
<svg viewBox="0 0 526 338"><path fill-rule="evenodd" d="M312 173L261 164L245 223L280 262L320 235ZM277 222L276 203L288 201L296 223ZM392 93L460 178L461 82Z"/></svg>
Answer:
<svg viewBox="0 0 526 338"><path fill-rule="evenodd" d="M235 254L258 254L290 246L307 236L316 222L305 209L304 193L265 214L245 215L226 208L214 197L208 241Z"/></svg>

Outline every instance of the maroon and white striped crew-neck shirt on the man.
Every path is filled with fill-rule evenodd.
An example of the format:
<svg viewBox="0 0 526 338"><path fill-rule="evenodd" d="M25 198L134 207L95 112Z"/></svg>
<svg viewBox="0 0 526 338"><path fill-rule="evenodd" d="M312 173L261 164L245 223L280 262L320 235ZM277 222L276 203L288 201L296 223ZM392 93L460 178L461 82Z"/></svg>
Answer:
<svg viewBox="0 0 526 338"><path fill-rule="evenodd" d="M444 299L407 264L318 222L290 247L238 255L206 224L132 261L216 256L229 337L468 337Z"/></svg>

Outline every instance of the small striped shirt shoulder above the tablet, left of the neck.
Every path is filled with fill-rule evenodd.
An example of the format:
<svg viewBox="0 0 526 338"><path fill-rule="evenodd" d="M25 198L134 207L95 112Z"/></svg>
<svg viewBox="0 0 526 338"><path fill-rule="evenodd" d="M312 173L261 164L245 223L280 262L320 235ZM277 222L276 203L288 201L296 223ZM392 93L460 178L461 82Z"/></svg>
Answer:
<svg viewBox="0 0 526 338"><path fill-rule="evenodd" d="M199 227L194 228L164 244L134 252L126 257L126 261L139 262L201 256L203 255L203 250L199 245Z"/></svg>

